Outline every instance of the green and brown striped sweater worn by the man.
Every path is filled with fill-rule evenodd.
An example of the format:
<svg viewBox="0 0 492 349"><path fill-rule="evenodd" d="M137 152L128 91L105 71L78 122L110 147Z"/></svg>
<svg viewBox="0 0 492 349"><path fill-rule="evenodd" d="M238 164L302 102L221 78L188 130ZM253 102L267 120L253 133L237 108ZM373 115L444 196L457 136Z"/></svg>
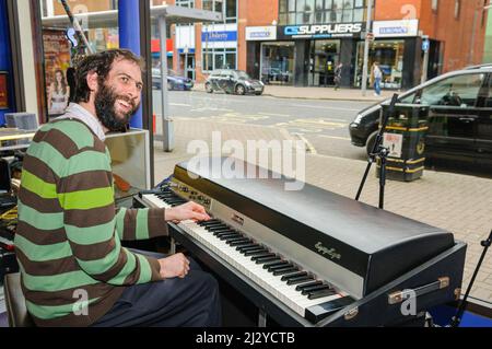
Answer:
<svg viewBox="0 0 492 349"><path fill-rule="evenodd" d="M24 159L15 235L36 325L89 326L126 286L161 280L156 259L120 241L165 234L163 209L116 209L109 152L84 123L39 129Z"/></svg>

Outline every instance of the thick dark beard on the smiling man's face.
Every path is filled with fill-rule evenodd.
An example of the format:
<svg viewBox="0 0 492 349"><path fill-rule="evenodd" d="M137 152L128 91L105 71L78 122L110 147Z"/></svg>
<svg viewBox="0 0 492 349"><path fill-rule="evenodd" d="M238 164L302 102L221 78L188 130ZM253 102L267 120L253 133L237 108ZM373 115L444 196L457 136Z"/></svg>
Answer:
<svg viewBox="0 0 492 349"><path fill-rule="evenodd" d="M131 109L128 113L116 112L117 100L128 103ZM140 107L140 104L134 104L128 96L118 95L113 88L107 86L105 83L99 84L94 104L97 118L110 131L124 130Z"/></svg>

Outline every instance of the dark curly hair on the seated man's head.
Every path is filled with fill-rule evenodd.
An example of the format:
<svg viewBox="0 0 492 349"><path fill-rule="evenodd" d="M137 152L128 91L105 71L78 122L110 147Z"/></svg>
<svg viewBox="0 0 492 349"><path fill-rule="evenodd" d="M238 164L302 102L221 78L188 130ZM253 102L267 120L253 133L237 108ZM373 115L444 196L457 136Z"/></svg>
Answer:
<svg viewBox="0 0 492 349"><path fill-rule="evenodd" d="M75 67L75 92L73 102L89 102L91 89L87 85L87 74L94 71L97 72L98 82L103 84L112 70L113 62L118 58L134 62L140 67L142 72L145 70L144 60L128 49L109 49L86 56Z"/></svg>

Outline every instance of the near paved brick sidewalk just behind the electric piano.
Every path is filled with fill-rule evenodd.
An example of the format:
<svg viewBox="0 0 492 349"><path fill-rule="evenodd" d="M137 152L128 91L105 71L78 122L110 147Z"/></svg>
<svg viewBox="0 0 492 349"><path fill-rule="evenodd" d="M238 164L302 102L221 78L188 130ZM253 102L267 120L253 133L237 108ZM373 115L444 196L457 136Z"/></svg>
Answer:
<svg viewBox="0 0 492 349"><path fill-rule="evenodd" d="M290 135L278 128L253 125L227 125L208 120L176 120L176 148L172 153L162 151L155 142L155 181L167 177L176 163L187 160L187 146L191 140L210 143L211 132L221 131L222 141L284 140ZM246 148L246 147L245 147ZM306 156L306 182L324 189L354 198L366 163L363 161L324 155ZM378 202L378 181L375 166L364 188L362 201ZM492 183L490 179L452 173L425 171L412 183L388 181L385 209L418 221L450 231L456 240L468 244L462 290L465 292L482 252L480 242L492 229ZM471 295L492 303L492 254L485 257Z"/></svg>

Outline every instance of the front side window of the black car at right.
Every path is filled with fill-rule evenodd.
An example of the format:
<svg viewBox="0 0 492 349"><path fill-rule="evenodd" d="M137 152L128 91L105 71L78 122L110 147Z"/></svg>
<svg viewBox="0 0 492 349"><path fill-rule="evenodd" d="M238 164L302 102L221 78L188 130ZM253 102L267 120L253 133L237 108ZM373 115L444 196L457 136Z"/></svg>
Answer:
<svg viewBox="0 0 492 349"><path fill-rule="evenodd" d="M473 107L484 79L484 73L475 73L441 80L422 89L420 103L434 106Z"/></svg>

